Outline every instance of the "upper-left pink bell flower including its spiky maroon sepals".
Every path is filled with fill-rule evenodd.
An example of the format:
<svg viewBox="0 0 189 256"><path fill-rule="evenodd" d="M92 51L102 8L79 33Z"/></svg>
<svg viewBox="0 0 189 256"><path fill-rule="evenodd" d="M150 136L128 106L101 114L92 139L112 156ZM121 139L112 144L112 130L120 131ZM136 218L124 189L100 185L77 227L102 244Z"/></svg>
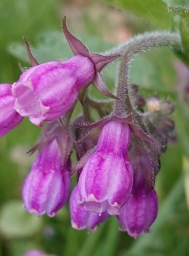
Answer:
<svg viewBox="0 0 189 256"><path fill-rule="evenodd" d="M79 90L90 83L104 95L116 98L106 89L100 71L120 55L89 53L81 41L69 33L65 18L62 27L75 56L38 65L25 40L29 58L35 67L25 71L12 85L12 94L16 98L14 109L38 126L42 121L53 121L64 115L76 101Z"/></svg>

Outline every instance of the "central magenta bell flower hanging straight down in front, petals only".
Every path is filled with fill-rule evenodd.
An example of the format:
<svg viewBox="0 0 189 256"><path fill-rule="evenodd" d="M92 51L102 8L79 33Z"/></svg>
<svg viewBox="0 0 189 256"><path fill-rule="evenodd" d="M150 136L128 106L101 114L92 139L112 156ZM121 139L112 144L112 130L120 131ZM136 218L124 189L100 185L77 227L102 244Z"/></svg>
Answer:
<svg viewBox="0 0 189 256"><path fill-rule="evenodd" d="M87 160L79 178L80 206L87 210L119 215L133 185L127 153L130 129L127 123L108 121L102 128L96 152Z"/></svg>

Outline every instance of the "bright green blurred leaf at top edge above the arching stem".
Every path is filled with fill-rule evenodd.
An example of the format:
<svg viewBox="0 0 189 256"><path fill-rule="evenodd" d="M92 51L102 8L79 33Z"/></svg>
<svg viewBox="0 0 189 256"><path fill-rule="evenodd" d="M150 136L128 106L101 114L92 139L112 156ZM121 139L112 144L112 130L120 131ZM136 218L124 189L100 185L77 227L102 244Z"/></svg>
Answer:
<svg viewBox="0 0 189 256"><path fill-rule="evenodd" d="M131 11L156 28L171 29L172 17L161 0L107 0L113 6Z"/></svg>

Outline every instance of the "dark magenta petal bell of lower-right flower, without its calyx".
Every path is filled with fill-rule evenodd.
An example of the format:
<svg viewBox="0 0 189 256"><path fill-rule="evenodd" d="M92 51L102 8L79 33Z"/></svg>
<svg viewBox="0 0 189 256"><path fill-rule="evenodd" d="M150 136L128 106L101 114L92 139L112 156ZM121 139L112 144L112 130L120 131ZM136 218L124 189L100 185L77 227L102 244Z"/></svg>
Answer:
<svg viewBox="0 0 189 256"><path fill-rule="evenodd" d="M139 175L138 175L139 176ZM117 219L122 224L121 230L131 237L138 237L143 232L150 232L150 226L157 217L158 203L154 189L145 189L143 177L134 180L128 201L120 210Z"/></svg>

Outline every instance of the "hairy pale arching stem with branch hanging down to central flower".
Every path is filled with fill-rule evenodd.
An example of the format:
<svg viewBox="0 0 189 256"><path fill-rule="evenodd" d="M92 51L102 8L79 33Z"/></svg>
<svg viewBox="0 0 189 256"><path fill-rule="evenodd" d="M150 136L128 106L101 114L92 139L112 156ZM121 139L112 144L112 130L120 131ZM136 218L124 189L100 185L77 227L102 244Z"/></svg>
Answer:
<svg viewBox="0 0 189 256"><path fill-rule="evenodd" d="M110 51L105 52L105 55L109 54L123 54L121 57L120 67L118 71L118 77L116 82L117 97L121 100L117 100L114 106L114 112L116 114L132 112L132 106L129 100L128 93L128 77L130 62L138 53L149 50L152 47L160 46L179 46L181 47L181 40L178 33L170 32L149 32L142 35L137 35L130 40L126 41Z"/></svg>

